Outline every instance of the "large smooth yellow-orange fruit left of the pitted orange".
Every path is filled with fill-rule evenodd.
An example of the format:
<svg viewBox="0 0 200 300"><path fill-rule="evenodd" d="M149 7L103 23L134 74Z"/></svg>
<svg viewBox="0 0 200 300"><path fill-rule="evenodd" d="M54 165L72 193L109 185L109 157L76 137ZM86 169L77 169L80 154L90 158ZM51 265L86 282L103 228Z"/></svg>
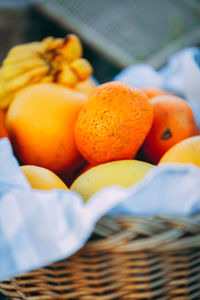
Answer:
<svg viewBox="0 0 200 300"><path fill-rule="evenodd" d="M7 112L6 125L14 152L22 164L71 172L81 156L74 126L87 97L53 83L20 91Z"/></svg>

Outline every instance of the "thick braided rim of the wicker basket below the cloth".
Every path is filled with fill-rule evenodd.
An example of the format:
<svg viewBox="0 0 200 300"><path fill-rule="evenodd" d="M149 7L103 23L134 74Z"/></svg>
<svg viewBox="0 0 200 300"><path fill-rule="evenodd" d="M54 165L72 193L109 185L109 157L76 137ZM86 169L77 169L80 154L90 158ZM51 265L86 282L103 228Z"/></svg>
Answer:
<svg viewBox="0 0 200 300"><path fill-rule="evenodd" d="M85 245L87 251L180 251L200 247L200 213L188 216L105 216L96 224L94 234L101 238L91 238ZM143 237L138 239L137 234Z"/></svg>

